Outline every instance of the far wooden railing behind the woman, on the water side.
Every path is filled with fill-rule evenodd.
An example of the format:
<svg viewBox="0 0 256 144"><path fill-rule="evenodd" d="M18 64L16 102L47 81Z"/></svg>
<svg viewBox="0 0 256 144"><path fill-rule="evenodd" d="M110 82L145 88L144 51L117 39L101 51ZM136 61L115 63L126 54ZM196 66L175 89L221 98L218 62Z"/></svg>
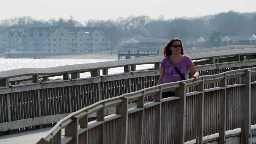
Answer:
<svg viewBox="0 0 256 144"><path fill-rule="evenodd" d="M255 47L225 46L187 51L186 55L192 60L205 59L194 62L197 70L200 75L212 75L255 67ZM101 100L156 86L162 58L163 56L151 56L0 72L0 135L53 126L68 114ZM140 64L154 64L154 67L136 70L136 65ZM115 67L124 67L124 73L108 75L108 69ZM103 75L100 75L101 69ZM83 72L90 72L91 77L79 78ZM48 77L58 75L63 75L64 80L48 81ZM39 82L39 78L43 78L43 81ZM24 80L32 80L32 83L17 85L18 81ZM239 78L227 81L228 84L239 82ZM208 83L205 87L214 88L218 85ZM195 90L196 87L188 88L189 92ZM148 98L147 96L145 101ZM132 107L133 104L129 106ZM112 109L105 110L105 114L113 113Z"/></svg>

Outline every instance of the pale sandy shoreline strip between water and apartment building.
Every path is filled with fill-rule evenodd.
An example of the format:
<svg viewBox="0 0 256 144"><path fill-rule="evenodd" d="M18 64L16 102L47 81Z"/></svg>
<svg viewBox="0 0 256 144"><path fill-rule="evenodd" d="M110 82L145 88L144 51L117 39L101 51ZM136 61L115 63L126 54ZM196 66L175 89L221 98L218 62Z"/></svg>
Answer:
<svg viewBox="0 0 256 144"><path fill-rule="evenodd" d="M110 55L110 52L97 52L97 53L86 53L86 54L68 54L63 56L49 56L43 57L39 59L114 59L118 60L117 52L113 52ZM4 56L0 56L0 58L4 58ZM20 59L20 58L18 58ZM27 58L22 58L27 59Z"/></svg>

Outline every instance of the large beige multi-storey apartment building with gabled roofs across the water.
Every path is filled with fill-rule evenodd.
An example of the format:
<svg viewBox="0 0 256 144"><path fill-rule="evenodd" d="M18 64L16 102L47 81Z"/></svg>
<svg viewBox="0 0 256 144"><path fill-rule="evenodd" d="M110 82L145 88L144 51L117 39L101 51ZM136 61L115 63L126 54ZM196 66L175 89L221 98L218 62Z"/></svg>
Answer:
<svg viewBox="0 0 256 144"><path fill-rule="evenodd" d="M108 50L104 28L32 27L11 29L6 51L91 53Z"/></svg>

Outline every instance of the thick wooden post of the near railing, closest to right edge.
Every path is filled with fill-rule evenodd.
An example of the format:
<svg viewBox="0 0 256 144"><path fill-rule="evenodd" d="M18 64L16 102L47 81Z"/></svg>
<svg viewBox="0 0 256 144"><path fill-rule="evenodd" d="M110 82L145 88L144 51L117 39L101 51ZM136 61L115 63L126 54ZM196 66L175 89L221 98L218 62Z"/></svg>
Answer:
<svg viewBox="0 0 256 144"><path fill-rule="evenodd" d="M242 99L241 99L241 138L240 143L251 143L251 107L252 107L252 82L251 82L251 70L246 70L245 75L241 78L241 82L246 86L242 87Z"/></svg>

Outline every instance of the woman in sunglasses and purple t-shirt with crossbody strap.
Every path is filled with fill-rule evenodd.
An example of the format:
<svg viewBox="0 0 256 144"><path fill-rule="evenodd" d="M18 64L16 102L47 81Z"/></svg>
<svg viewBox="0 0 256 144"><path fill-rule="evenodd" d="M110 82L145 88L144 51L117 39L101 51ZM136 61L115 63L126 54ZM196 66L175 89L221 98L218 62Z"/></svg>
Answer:
<svg viewBox="0 0 256 144"><path fill-rule="evenodd" d="M168 42L163 48L163 54L165 58L161 62L160 78L157 85L182 80L181 76L178 74L178 72L173 67L173 64L168 59L169 56L175 63L176 67L179 69L179 73L183 75L184 79L186 79L189 70L193 74L194 80L197 81L199 73L197 72L192 60L188 56L184 55L183 46L180 39L171 39L170 42ZM170 96L175 96L175 91L167 91L162 93L162 98ZM154 100L154 95L151 96L151 99Z"/></svg>

